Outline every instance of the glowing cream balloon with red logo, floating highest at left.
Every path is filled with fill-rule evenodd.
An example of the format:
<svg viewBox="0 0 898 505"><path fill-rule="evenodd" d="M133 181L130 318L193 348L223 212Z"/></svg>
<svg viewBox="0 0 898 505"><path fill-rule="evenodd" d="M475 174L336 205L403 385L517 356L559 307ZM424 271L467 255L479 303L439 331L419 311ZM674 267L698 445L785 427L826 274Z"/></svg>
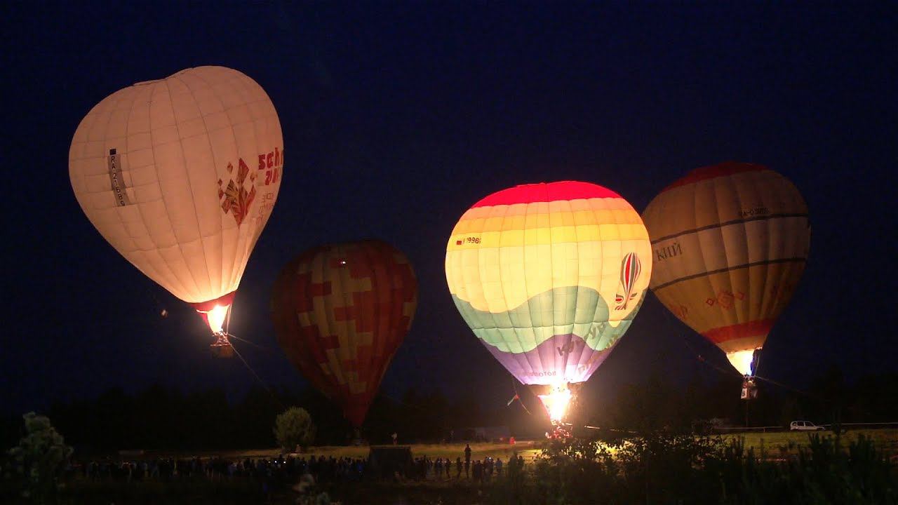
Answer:
<svg viewBox="0 0 898 505"><path fill-rule="evenodd" d="M250 77L199 66L110 94L75 130L69 177L122 256L195 306L233 352L234 291L277 199L277 111Z"/></svg>

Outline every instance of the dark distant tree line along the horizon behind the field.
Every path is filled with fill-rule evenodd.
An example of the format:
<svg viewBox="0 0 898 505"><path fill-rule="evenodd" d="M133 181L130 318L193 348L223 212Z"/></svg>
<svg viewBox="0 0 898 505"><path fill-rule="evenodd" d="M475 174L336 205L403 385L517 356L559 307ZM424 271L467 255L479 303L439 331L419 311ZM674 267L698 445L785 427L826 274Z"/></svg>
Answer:
<svg viewBox="0 0 898 505"><path fill-rule="evenodd" d="M689 432L697 421L712 418L739 426L746 421L739 399L739 377L679 384L668 377L649 377L622 385L603 403L589 390L582 394L572 421L621 430L666 429ZM848 384L838 368L826 370L806 388L794 390L760 381L761 394L748 405L752 426L788 426L804 419L832 422L898 421L898 374L861 377ZM508 426L518 438L539 437L549 428L539 400L519 387L521 403L484 405L473 392L450 398L439 391L409 388L400 398L377 396L360 435L370 443L461 441L473 438L473 427ZM522 408L522 404L526 408ZM46 412L66 443L80 451L141 449L240 449L275 447L272 428L277 414L290 406L308 411L317 432L315 445L351 443L356 433L339 409L312 388L302 391L252 387L234 401L222 388L185 393L153 385L135 394L113 388L96 398L55 403ZM4 447L22 436L21 413L0 420Z"/></svg>

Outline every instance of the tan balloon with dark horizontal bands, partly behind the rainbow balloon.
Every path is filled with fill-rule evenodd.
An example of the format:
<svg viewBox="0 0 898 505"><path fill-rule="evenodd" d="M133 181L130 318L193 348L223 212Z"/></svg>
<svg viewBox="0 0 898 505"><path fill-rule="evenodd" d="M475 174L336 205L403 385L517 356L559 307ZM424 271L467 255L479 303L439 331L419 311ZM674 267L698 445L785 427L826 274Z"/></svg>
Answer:
<svg viewBox="0 0 898 505"><path fill-rule="evenodd" d="M658 299L751 377L754 351L805 270L811 239L805 199L779 173L728 162L666 187L643 220Z"/></svg>

